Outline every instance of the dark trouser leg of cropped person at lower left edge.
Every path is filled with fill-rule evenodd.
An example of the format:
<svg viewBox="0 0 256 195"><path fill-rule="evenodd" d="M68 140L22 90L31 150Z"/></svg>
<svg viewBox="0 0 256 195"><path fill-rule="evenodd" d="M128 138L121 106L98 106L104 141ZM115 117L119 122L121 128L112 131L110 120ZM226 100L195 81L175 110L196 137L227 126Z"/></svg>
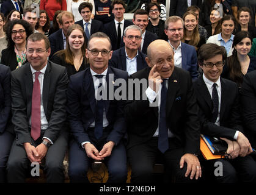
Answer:
<svg viewBox="0 0 256 195"><path fill-rule="evenodd" d="M13 139L14 135L6 130L0 133L0 183L6 182L6 163Z"/></svg>

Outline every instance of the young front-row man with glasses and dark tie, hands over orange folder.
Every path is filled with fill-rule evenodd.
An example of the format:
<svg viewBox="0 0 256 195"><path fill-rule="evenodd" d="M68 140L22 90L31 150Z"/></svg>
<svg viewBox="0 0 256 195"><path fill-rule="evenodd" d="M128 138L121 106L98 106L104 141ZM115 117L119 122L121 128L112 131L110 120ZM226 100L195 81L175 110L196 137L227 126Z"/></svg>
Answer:
<svg viewBox="0 0 256 195"><path fill-rule="evenodd" d="M244 136L238 86L221 77L225 59L227 52L223 46L207 43L199 49L198 63L203 75L195 80L194 90L199 105L201 133L224 140L228 146L225 151L227 158L207 160L203 164L216 182L255 183L256 161L250 155L251 144ZM223 168L217 176L213 175L216 163Z"/></svg>

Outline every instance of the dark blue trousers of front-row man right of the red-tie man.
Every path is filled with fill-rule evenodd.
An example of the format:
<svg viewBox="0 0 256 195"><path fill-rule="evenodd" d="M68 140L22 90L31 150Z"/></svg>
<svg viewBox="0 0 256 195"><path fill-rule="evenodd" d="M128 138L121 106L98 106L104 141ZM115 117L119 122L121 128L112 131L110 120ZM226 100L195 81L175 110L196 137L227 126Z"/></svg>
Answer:
<svg viewBox="0 0 256 195"><path fill-rule="evenodd" d="M90 143L92 143L100 152L109 135L108 130L103 130L103 136L100 140L95 139L93 129L89 132ZM86 151L73 138L70 140L68 157L68 176L70 182L89 182L87 171L92 158L87 157ZM108 167L108 183L125 183L127 180L127 158L126 149L122 141L114 146L111 155L104 158L105 165Z"/></svg>

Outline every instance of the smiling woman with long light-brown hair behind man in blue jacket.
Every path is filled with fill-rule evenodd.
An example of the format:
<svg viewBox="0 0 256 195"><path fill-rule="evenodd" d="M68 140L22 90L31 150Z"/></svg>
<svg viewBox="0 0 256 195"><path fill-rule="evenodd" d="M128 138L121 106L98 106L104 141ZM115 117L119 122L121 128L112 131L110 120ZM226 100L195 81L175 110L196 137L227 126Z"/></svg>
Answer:
<svg viewBox="0 0 256 195"><path fill-rule="evenodd" d="M183 15L184 35L181 41L190 44L199 50L202 44L205 44L205 38L200 36L198 28L198 19L195 12L188 11Z"/></svg>

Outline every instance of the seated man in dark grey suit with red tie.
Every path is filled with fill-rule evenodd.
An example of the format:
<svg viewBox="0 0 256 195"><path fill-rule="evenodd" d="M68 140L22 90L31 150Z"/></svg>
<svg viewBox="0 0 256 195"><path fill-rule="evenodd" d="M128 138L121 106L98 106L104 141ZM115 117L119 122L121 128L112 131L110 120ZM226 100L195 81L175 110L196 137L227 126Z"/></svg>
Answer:
<svg viewBox="0 0 256 195"><path fill-rule="evenodd" d="M28 63L12 72L12 123L16 133L7 162L8 182L25 182L27 170L45 161L46 182L64 182L68 146L66 119L67 70L48 61L48 38L27 38ZM39 163L39 164L38 164Z"/></svg>

